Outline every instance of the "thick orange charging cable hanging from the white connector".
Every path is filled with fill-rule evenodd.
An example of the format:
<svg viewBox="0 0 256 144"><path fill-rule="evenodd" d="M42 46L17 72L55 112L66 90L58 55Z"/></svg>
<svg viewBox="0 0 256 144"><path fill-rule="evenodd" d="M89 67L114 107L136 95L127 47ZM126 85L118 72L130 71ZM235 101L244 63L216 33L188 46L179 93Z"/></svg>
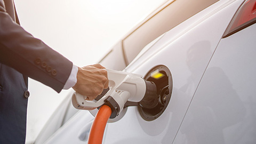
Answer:
<svg viewBox="0 0 256 144"><path fill-rule="evenodd" d="M111 113L112 111L109 106L103 105L100 107L91 127L88 140L89 144L102 143L105 127Z"/></svg>

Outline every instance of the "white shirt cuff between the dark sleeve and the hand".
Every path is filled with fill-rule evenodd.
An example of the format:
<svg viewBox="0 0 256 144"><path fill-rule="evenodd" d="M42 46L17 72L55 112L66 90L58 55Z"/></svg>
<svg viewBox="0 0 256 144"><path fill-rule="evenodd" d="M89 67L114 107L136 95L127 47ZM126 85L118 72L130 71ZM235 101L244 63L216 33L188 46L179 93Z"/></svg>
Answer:
<svg viewBox="0 0 256 144"><path fill-rule="evenodd" d="M77 78L76 78L77 72L78 72L78 67L73 64L71 73L68 77L68 80L67 80L66 84L63 87L63 90L68 90L70 87L73 87L76 84L76 82L77 82Z"/></svg>

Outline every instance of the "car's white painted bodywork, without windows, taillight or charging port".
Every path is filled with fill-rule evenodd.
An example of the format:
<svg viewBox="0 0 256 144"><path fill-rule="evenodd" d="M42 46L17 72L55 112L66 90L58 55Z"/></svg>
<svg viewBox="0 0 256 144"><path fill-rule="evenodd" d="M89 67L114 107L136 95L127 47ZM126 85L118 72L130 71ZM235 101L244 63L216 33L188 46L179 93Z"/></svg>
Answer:
<svg viewBox="0 0 256 144"><path fill-rule="evenodd" d="M219 1L148 44L125 71L165 65L172 97L147 122L137 107L108 123L103 143L254 143L256 24L222 39L242 1ZM48 143L86 143L93 117L79 111ZM81 134L82 133L82 134ZM81 140L82 139L82 140Z"/></svg>

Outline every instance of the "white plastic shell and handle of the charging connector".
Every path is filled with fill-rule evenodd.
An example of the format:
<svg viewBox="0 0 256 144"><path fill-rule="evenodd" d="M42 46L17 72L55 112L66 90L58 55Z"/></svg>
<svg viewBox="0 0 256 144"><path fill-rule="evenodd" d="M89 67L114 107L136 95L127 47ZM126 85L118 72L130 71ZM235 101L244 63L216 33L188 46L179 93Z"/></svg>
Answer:
<svg viewBox="0 0 256 144"><path fill-rule="evenodd" d="M101 94L97 100L87 101L86 96L74 93L72 96L73 106L77 109L93 110L103 105L108 96L113 97L117 103L124 107L127 100L139 102L146 91L146 84L141 75L106 69L109 79L109 90L105 95ZM116 93L117 91L117 93ZM119 95L119 96L118 96Z"/></svg>

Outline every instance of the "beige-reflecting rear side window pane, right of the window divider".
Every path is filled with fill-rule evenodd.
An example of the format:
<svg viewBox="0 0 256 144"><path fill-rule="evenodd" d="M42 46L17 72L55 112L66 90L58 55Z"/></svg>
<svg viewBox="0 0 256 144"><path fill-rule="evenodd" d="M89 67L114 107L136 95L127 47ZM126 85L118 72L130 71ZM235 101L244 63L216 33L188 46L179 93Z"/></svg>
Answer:
<svg viewBox="0 0 256 144"><path fill-rule="evenodd" d="M148 43L219 0L175 0L145 20L123 39L125 63L128 65Z"/></svg>

